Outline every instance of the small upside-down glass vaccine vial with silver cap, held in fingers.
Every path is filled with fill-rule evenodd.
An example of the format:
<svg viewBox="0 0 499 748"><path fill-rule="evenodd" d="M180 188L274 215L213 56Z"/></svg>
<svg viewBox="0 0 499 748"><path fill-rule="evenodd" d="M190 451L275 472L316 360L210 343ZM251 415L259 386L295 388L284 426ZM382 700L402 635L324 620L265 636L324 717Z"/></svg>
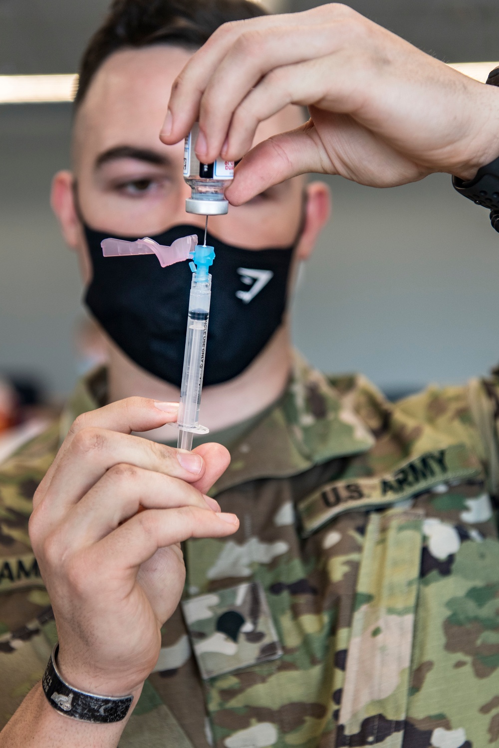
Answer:
<svg viewBox="0 0 499 748"><path fill-rule="evenodd" d="M224 190L234 178L234 162L217 159L213 164L198 161L194 147L198 139L199 125L195 123L186 137L183 175L191 188L191 197L186 200L186 212L198 215L223 215L229 209Z"/></svg>

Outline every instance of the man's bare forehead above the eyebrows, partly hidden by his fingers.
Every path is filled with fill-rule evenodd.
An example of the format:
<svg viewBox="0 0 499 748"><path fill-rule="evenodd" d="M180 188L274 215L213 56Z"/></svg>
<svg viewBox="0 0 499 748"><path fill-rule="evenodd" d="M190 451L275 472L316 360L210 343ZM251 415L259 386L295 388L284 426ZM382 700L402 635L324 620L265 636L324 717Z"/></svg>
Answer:
<svg viewBox="0 0 499 748"><path fill-rule="evenodd" d="M76 116L76 163L96 159L119 145L171 151L171 146L159 141L159 130L171 86L191 55L174 46L126 49L111 55L98 70ZM255 143L302 122L299 107L288 106L260 124Z"/></svg>

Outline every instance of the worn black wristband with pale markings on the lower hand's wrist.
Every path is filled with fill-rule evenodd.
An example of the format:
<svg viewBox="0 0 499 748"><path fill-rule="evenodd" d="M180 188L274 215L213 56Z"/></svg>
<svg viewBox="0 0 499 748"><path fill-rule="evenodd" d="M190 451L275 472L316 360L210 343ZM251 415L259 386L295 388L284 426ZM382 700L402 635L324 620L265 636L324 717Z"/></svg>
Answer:
<svg viewBox="0 0 499 748"><path fill-rule="evenodd" d="M93 723L120 722L132 705L133 696L97 696L71 687L63 681L58 671L56 657L59 645L52 649L43 675L43 693L49 704L60 714L74 720Z"/></svg>

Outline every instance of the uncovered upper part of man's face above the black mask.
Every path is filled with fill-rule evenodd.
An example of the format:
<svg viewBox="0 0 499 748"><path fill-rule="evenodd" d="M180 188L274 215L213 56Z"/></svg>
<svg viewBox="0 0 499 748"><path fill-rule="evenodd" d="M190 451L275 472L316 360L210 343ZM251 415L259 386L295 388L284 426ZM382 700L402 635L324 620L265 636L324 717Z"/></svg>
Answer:
<svg viewBox="0 0 499 748"><path fill-rule="evenodd" d="M74 134L79 204L91 227L150 236L175 224L204 225L203 216L186 213L183 142L159 141L171 85L189 56L169 46L117 52L91 83ZM260 125L255 142L302 121L299 108L288 106ZM303 189L301 177L272 187L209 218L209 229L230 244L289 246L299 231Z"/></svg>

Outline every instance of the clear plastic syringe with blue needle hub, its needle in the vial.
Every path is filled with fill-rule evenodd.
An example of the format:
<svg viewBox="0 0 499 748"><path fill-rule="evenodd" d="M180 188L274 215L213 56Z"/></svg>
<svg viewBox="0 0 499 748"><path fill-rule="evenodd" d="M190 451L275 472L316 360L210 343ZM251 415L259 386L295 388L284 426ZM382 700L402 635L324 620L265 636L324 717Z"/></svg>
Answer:
<svg viewBox="0 0 499 748"><path fill-rule="evenodd" d="M204 227L204 244L195 248L192 263L189 265L192 270L192 283L189 296L186 352L180 387L180 408L177 418L177 426L180 429L177 446L182 450L191 450L192 438L195 434L207 434L209 431L198 423L208 333L209 300L212 292L212 277L209 275L208 268L215 259L213 248L206 246L207 226L208 216L206 216Z"/></svg>

